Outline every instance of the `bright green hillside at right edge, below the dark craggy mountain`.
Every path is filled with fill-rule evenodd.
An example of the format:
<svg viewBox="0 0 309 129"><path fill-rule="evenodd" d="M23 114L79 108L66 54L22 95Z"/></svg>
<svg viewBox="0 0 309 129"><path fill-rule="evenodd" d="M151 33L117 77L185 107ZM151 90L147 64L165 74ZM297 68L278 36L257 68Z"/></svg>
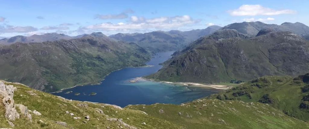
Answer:
<svg viewBox="0 0 309 129"><path fill-rule="evenodd" d="M309 74L266 76L228 89L213 98L267 103L292 117L309 121Z"/></svg>

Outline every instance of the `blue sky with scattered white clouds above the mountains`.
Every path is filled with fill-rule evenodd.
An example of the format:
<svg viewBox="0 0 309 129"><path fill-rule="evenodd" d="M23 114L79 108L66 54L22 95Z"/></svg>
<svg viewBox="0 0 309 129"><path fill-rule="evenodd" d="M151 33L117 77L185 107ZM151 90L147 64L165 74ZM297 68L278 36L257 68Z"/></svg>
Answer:
<svg viewBox="0 0 309 129"><path fill-rule="evenodd" d="M309 25L308 0L0 0L0 37L204 29L261 21Z"/></svg>

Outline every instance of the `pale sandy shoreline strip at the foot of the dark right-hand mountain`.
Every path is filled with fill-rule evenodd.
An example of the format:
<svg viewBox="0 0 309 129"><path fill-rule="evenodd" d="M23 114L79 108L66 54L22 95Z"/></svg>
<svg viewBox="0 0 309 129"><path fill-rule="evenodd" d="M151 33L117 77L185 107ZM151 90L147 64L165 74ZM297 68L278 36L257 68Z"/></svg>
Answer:
<svg viewBox="0 0 309 129"><path fill-rule="evenodd" d="M141 79L144 80L148 80L148 81L154 81L154 82L160 82L160 83L167 83L167 84L174 84L174 85L184 85L184 86L197 86L197 87L209 87L209 88L213 88L213 89L230 89L231 86L228 85L213 85L213 84L200 84L200 83L194 83L194 82L169 82L169 81L156 81L153 79L148 79L148 78L144 78L141 77Z"/></svg>

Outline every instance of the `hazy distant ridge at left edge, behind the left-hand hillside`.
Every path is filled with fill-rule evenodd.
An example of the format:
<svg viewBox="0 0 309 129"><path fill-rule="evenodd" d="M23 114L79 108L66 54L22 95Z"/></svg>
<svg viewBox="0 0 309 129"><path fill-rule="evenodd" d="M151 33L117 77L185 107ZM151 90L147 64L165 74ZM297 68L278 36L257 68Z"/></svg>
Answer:
<svg viewBox="0 0 309 129"><path fill-rule="evenodd" d="M75 37L71 37L65 34L47 33L43 35L32 35L32 36L14 36L11 38L5 38L0 40L0 44L10 45L17 42L30 43L30 42L45 42L45 41L56 41L56 40L70 40Z"/></svg>

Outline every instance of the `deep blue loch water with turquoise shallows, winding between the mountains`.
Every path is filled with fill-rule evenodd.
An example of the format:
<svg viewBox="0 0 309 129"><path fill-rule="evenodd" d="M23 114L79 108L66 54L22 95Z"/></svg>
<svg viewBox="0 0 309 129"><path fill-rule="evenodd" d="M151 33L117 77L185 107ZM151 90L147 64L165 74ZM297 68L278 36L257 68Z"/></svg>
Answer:
<svg viewBox="0 0 309 129"><path fill-rule="evenodd" d="M155 55L148 63L153 67L125 68L112 72L100 85L78 86L54 93L67 99L114 104L121 107L129 104L171 103L180 104L217 93L216 89L185 87L140 79L130 83L136 77L143 77L162 68L159 63L171 58L173 52L162 52ZM65 94L67 91L72 93ZM97 93L89 96L91 92ZM75 96L74 93L80 93Z"/></svg>

